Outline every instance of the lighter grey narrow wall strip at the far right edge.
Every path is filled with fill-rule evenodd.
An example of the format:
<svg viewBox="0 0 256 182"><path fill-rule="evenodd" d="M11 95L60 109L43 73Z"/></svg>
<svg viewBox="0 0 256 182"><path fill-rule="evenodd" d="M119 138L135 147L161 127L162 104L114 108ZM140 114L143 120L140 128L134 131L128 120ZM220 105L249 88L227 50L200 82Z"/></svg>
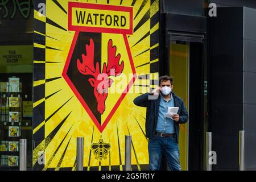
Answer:
<svg viewBox="0 0 256 182"><path fill-rule="evenodd" d="M245 167L256 170L256 9L244 8Z"/></svg>

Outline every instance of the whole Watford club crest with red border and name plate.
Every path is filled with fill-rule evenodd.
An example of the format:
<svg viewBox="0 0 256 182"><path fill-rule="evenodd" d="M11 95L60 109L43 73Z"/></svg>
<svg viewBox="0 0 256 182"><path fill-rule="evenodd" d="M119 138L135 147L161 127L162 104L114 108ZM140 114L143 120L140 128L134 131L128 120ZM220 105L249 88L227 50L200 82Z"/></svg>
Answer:
<svg viewBox="0 0 256 182"><path fill-rule="evenodd" d="M75 35L62 75L102 132L137 78L127 40L133 7L69 2L68 30ZM122 93L109 93L130 74Z"/></svg>

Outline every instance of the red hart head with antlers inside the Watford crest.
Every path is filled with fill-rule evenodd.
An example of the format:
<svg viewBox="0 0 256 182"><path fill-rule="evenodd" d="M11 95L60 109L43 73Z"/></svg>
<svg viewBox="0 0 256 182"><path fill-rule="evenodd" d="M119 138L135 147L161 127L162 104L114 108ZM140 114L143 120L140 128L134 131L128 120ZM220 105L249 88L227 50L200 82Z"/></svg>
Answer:
<svg viewBox="0 0 256 182"><path fill-rule="evenodd" d="M108 43L108 64L104 63L103 71L101 73L99 62L94 67L94 43L90 39L90 45L86 44L85 56L82 54L82 63L77 60L77 69L82 75L91 76L88 81L94 88L93 93L97 100L97 110L100 114L105 111L105 101L108 97L108 88L112 85L113 80L110 76L119 76L123 71L123 61L119 65L120 54L115 56L116 48L112 47L112 40Z"/></svg>

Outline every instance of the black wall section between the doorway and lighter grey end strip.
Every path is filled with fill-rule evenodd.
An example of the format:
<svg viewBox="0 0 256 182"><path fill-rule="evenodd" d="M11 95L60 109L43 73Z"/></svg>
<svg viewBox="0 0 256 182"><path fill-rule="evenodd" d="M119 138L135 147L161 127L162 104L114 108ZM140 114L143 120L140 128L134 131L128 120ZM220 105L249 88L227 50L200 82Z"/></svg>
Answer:
<svg viewBox="0 0 256 182"><path fill-rule="evenodd" d="M218 8L209 18L213 170L238 169L238 134L243 122L243 9Z"/></svg>

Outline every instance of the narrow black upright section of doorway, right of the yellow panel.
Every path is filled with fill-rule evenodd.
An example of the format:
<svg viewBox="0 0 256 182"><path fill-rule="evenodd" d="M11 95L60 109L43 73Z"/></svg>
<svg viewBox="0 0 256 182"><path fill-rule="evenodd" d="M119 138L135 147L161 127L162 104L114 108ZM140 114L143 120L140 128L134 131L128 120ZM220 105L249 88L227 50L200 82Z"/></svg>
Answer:
<svg viewBox="0 0 256 182"><path fill-rule="evenodd" d="M190 43L188 169L203 170L204 64L203 43ZM206 131L205 131L206 132Z"/></svg>

